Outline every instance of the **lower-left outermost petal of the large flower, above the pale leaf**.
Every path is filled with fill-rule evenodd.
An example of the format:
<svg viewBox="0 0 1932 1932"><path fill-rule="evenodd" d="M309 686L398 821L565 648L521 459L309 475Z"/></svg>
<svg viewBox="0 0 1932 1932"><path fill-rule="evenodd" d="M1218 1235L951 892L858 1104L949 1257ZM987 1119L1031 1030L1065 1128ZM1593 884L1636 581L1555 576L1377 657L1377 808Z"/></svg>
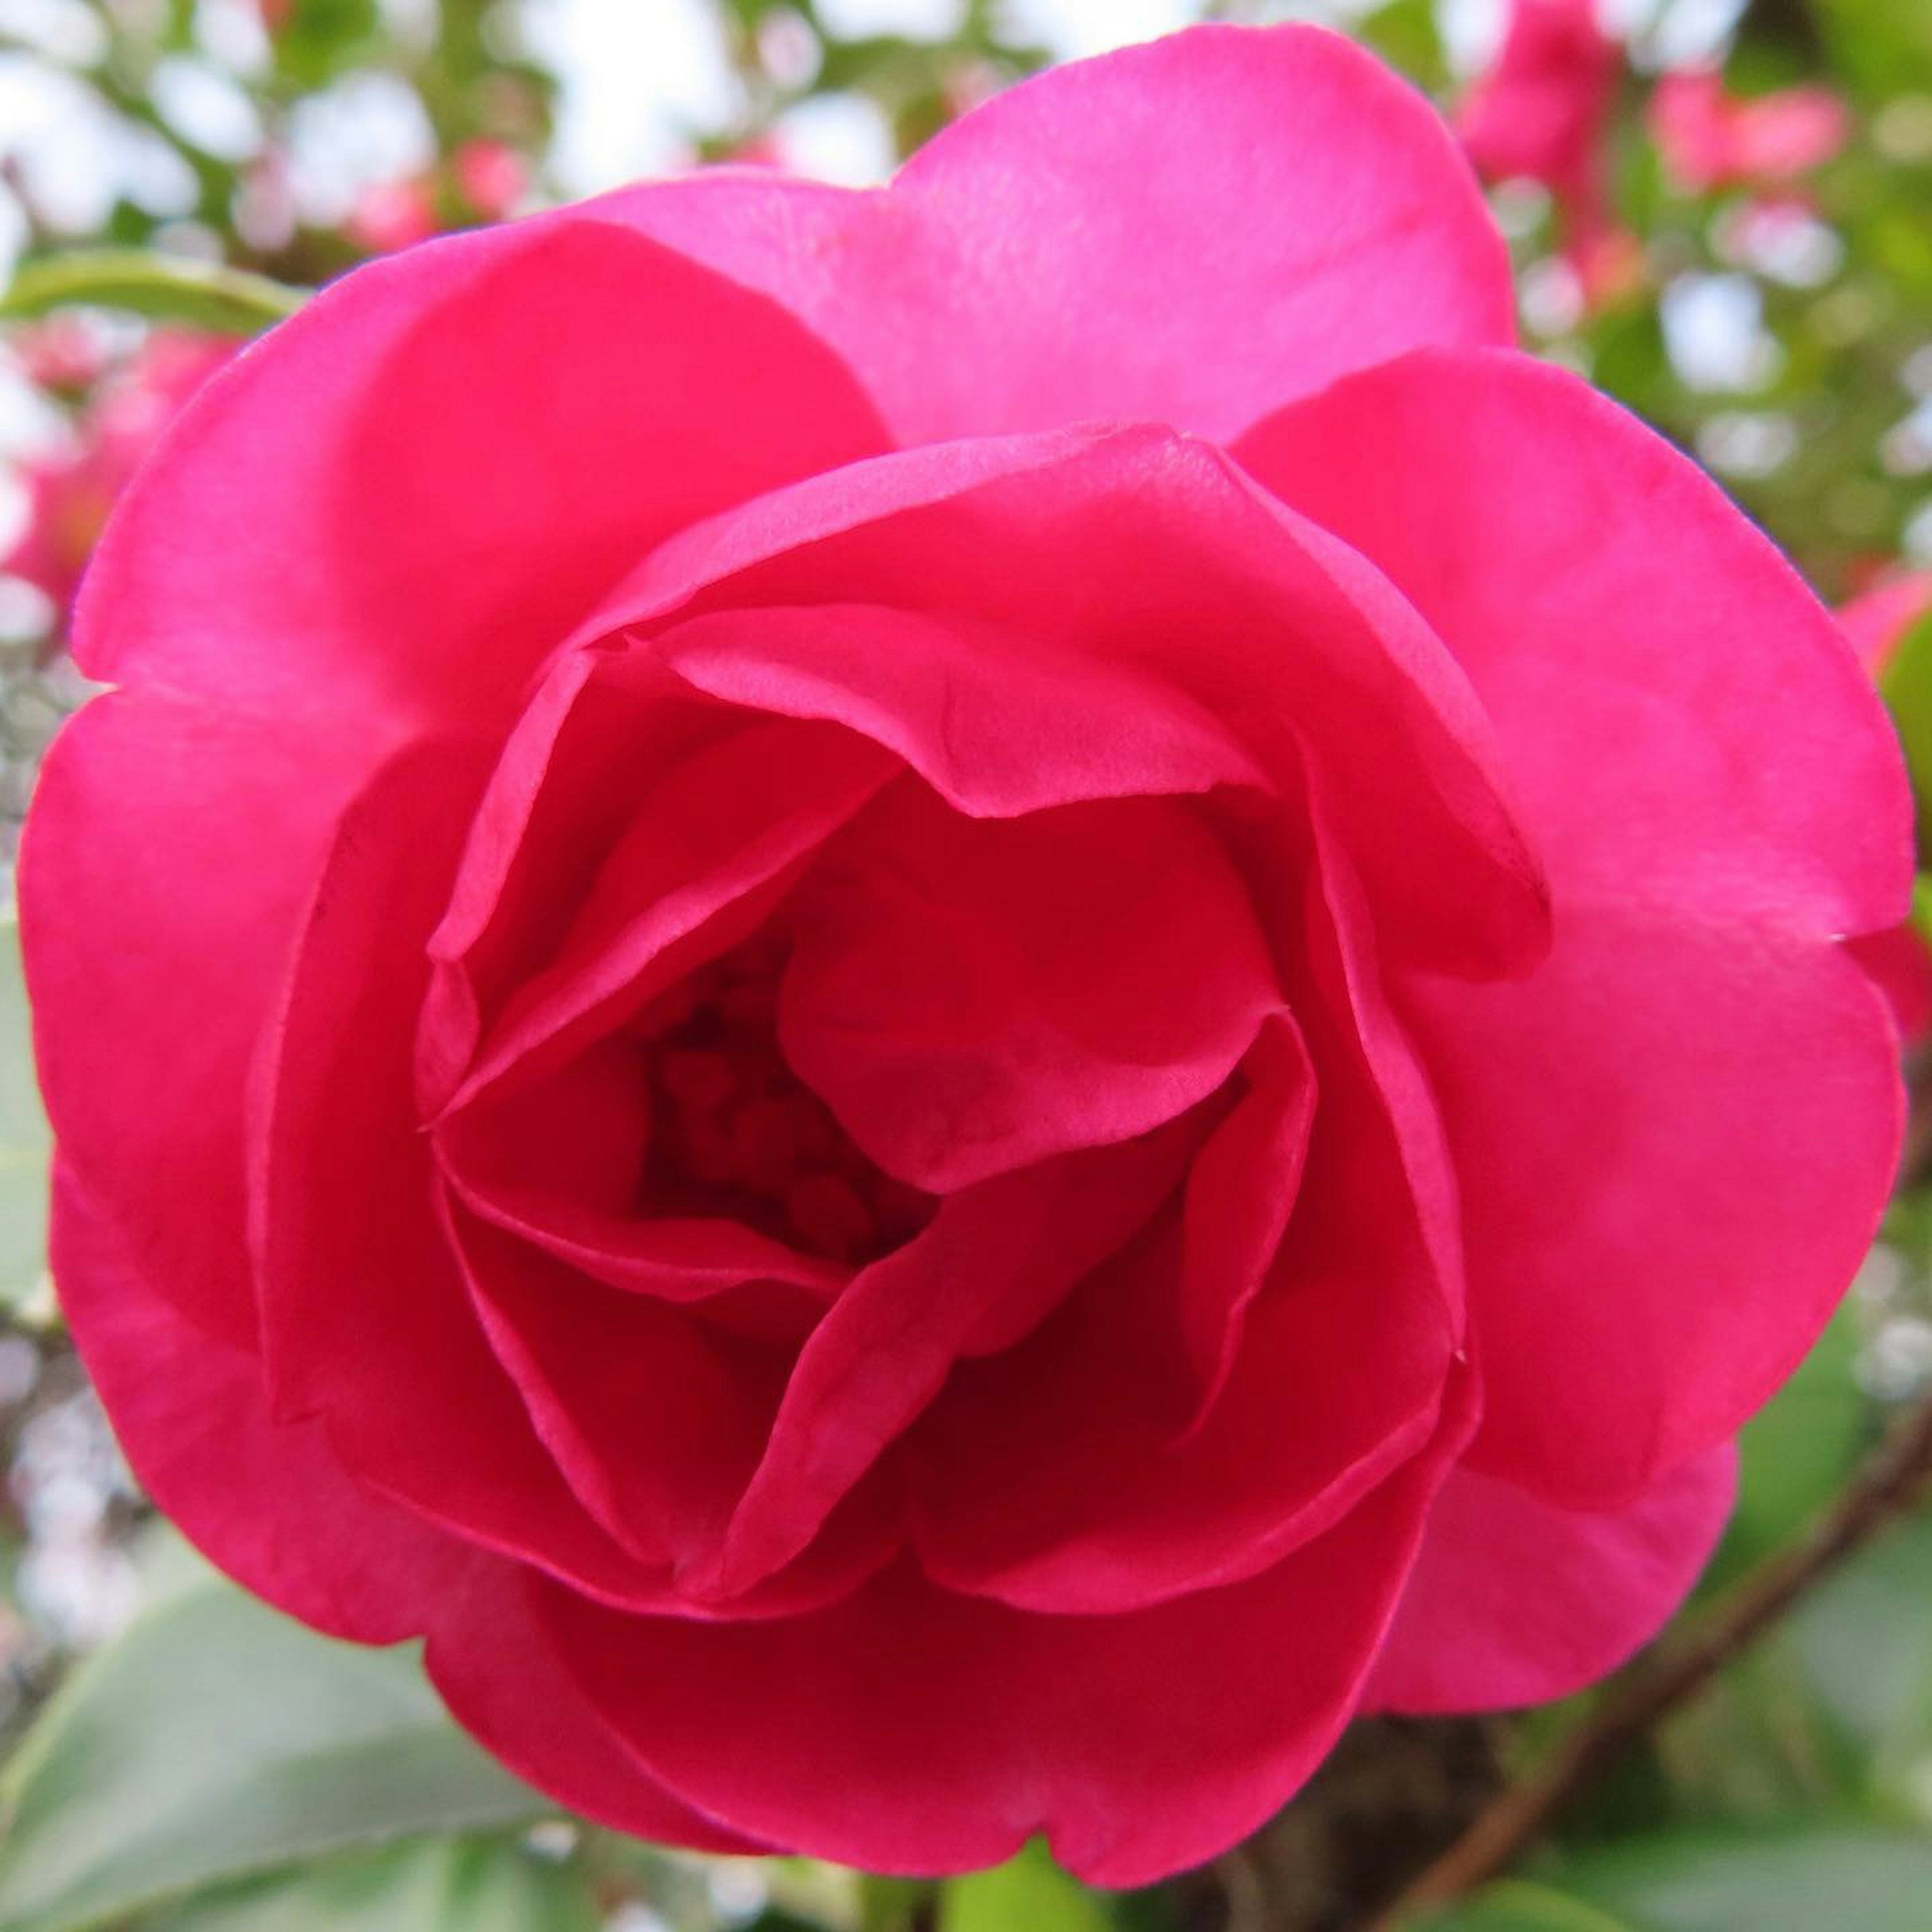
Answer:
<svg viewBox="0 0 1932 1932"><path fill-rule="evenodd" d="M425 1629L475 1553L357 1486L317 1424L274 1422L261 1364L189 1327L64 1167L52 1265L141 1488L209 1561L330 1636Z"/></svg>

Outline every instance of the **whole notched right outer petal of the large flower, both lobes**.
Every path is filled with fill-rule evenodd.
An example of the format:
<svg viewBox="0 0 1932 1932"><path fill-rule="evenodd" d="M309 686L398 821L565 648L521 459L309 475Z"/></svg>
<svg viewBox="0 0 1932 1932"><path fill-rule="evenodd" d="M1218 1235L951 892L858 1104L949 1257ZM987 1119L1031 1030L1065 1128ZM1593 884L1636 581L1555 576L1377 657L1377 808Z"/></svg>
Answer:
<svg viewBox="0 0 1932 1932"><path fill-rule="evenodd" d="M1405 995L1463 1186L1478 1459L1629 1501L1791 1370L1884 1202L1893 1045L1828 941L1903 912L1891 728L1772 547L1559 371L1408 357L1238 454L1376 558L1495 719L1555 952Z"/></svg>

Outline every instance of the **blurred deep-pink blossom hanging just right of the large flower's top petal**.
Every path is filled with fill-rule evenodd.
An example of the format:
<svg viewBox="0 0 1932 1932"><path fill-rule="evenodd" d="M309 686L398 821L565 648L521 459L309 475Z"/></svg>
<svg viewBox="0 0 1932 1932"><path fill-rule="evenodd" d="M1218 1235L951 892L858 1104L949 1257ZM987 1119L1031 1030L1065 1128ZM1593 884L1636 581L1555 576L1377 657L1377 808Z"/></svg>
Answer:
<svg viewBox="0 0 1932 1932"><path fill-rule="evenodd" d="M1623 48L1596 0L1515 0L1501 50L1468 91L1457 131L1492 182L1540 182L1555 197L1565 253L1588 284L1627 242L1609 214L1609 114Z"/></svg>

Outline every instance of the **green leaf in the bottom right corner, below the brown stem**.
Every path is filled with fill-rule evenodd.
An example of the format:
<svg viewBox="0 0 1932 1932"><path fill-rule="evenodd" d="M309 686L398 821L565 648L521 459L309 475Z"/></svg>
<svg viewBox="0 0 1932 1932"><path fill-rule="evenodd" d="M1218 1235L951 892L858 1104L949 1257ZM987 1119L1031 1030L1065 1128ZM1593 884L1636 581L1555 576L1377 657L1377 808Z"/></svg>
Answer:
<svg viewBox="0 0 1932 1932"><path fill-rule="evenodd" d="M1642 1932L1926 1932L1932 1841L1861 1826L1687 1833L1577 1859L1561 1884Z"/></svg>

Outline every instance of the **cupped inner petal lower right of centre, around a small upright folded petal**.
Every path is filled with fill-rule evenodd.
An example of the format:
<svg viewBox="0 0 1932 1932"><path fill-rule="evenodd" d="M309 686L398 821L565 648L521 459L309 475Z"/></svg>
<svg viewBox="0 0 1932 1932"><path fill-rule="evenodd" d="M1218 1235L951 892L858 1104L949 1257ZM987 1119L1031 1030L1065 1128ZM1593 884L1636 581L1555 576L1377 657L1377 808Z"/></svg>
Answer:
<svg viewBox="0 0 1932 1932"><path fill-rule="evenodd" d="M1208 1227L1190 1188L1165 1246L962 1368L912 1441L916 1540L939 1582L1057 1613L1227 1584L1320 1536L1432 1432L1463 1331L1453 1196L1416 1180L1439 1169L1441 1122L1387 1012L1350 1007L1356 976L1374 980L1360 931L1314 883L1298 925L1312 970L1294 1010L1321 1097L1279 1258L1256 1238L1264 1180L1248 1177L1235 1229ZM1204 1196L1246 1124L1233 1113L1196 1161ZM1196 1296L1242 1331L1206 1408Z"/></svg>

